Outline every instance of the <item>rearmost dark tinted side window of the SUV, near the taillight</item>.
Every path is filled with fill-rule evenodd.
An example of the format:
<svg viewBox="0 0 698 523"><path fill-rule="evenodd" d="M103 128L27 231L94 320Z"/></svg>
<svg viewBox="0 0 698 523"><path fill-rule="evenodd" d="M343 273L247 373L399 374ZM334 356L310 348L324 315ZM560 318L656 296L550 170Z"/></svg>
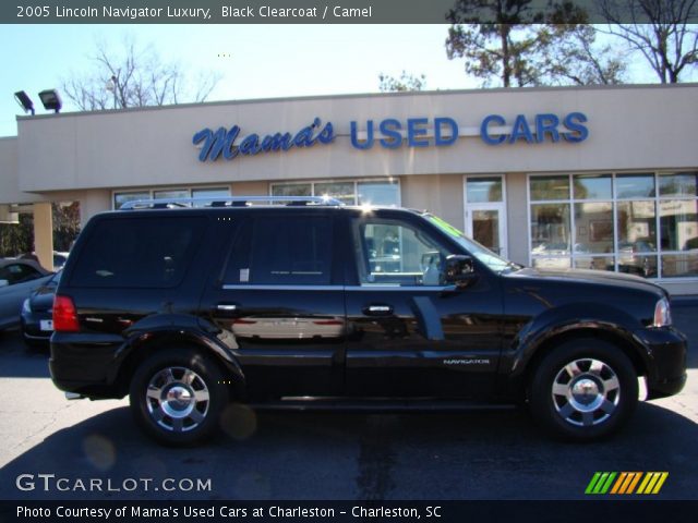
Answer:
<svg viewBox="0 0 698 523"><path fill-rule="evenodd" d="M80 252L71 287L177 287L205 226L203 217L100 220Z"/></svg>

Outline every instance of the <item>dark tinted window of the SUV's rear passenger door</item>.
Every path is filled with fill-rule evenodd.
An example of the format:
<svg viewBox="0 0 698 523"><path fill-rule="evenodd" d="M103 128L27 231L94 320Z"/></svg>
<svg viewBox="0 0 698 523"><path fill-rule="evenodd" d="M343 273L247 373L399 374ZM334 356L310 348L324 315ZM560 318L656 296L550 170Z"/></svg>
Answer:
<svg viewBox="0 0 698 523"><path fill-rule="evenodd" d="M236 235L226 282L329 284L332 229L326 217L272 216L244 223Z"/></svg>

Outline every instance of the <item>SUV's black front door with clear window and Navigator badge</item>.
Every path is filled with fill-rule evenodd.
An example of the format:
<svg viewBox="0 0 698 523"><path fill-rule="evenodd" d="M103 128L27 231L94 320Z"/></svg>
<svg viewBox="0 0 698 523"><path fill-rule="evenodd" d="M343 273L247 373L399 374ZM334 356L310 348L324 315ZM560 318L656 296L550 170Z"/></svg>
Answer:
<svg viewBox="0 0 698 523"><path fill-rule="evenodd" d="M444 262L455 253L419 217L370 215L346 227L357 246L346 293L348 394L491 393L502 344L496 279L446 285Z"/></svg>

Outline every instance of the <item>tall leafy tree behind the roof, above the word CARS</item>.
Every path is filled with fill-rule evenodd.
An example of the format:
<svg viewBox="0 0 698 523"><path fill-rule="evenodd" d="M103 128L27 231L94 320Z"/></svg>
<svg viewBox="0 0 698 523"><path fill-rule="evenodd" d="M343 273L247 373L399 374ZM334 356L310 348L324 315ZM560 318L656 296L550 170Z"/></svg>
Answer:
<svg viewBox="0 0 698 523"><path fill-rule="evenodd" d="M447 15L449 59L465 58L466 72L489 85L618 83L623 62L597 48L586 11L552 2L541 11L531 0L458 0Z"/></svg>

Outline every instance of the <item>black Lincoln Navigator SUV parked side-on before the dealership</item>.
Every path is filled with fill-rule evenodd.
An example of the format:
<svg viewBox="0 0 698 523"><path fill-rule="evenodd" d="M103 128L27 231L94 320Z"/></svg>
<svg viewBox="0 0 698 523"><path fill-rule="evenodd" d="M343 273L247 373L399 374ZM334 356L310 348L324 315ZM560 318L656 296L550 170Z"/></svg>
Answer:
<svg viewBox="0 0 698 523"><path fill-rule="evenodd" d="M182 208L185 207L185 208ZM528 403L592 440L677 393L686 340L638 277L535 270L428 214L326 198L131 203L63 270L50 368L69 398L130 396L170 445L255 408ZM227 415L227 414L226 414Z"/></svg>

